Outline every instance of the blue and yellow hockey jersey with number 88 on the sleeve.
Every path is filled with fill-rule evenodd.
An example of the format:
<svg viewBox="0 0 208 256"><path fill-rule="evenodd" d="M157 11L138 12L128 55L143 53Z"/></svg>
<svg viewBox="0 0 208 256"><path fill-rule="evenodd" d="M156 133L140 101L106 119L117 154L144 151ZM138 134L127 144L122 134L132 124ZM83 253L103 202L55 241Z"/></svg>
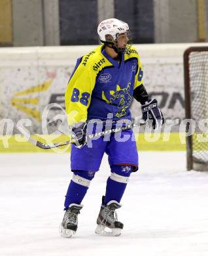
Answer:
<svg viewBox="0 0 208 256"><path fill-rule="evenodd" d="M89 119L130 119L133 90L143 83L143 70L135 47L120 62L103 45L78 58L65 92L69 125Z"/></svg>

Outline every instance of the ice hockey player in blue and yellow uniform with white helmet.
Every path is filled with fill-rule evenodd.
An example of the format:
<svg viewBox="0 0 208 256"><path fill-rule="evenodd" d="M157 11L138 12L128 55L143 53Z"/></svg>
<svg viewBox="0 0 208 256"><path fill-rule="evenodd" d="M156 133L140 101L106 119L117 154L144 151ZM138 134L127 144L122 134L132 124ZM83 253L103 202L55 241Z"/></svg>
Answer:
<svg viewBox="0 0 208 256"><path fill-rule="evenodd" d="M65 196L65 214L60 225L61 236L67 238L77 231L81 202L104 153L109 157L111 175L97 217L97 234L121 234L124 225L117 220L116 209L122 206L120 200L131 173L138 169L133 131L122 131L122 136L129 137L124 142L111 135L109 140L103 137L92 140L92 146L88 146L85 135L91 121L101 120L103 129L109 114L113 125L131 121L130 106L134 97L141 102L143 119L152 120L153 129L164 123L157 100L149 98L143 85L143 70L139 54L130 44L128 24L109 18L99 24L97 33L101 45L78 58L65 92L68 123L77 139L77 144L71 147L73 178Z"/></svg>

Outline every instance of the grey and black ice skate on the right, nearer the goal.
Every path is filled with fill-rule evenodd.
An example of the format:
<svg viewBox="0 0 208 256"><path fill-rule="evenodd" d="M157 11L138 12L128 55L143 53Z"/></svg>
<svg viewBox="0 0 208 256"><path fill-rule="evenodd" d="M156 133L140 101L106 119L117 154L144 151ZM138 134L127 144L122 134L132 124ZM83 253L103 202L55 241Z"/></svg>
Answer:
<svg viewBox="0 0 208 256"><path fill-rule="evenodd" d="M122 205L115 200L111 200L107 205L102 203L97 217L96 234L101 236L120 236L124 224L117 221L116 209L121 206Z"/></svg>

